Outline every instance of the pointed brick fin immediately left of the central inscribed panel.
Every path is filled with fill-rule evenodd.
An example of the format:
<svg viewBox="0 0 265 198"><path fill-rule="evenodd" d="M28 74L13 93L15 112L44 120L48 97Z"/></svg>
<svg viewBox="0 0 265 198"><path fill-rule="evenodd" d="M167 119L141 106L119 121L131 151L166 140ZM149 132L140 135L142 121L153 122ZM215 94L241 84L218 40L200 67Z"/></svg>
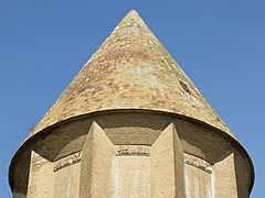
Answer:
<svg viewBox="0 0 265 198"><path fill-rule="evenodd" d="M80 197L112 197L113 143L103 129L93 122L82 151Z"/></svg>

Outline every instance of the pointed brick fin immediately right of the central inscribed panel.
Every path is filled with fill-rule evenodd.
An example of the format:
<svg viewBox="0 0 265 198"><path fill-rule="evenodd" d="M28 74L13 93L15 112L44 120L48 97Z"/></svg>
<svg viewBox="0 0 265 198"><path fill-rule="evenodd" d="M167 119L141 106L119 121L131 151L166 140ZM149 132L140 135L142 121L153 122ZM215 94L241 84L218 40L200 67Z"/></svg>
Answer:
<svg viewBox="0 0 265 198"><path fill-rule="evenodd" d="M184 157L173 123L151 146L151 197L186 198Z"/></svg>

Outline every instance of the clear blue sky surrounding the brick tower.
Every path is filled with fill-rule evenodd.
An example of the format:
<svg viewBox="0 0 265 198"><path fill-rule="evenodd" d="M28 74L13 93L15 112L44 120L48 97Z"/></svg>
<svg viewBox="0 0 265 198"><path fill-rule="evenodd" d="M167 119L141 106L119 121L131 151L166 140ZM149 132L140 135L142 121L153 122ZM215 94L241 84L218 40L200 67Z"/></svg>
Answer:
<svg viewBox="0 0 265 198"><path fill-rule="evenodd" d="M136 9L251 155L265 197L265 1L0 0L0 197L19 145Z"/></svg>

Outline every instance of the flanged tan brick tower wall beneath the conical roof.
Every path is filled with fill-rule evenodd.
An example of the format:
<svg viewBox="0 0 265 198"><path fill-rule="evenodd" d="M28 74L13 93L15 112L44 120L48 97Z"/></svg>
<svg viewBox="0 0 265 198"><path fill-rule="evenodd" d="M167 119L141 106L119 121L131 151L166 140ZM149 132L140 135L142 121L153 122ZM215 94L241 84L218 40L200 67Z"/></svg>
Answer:
<svg viewBox="0 0 265 198"><path fill-rule="evenodd" d="M89 131L89 128L94 129L92 120L100 123L100 130L97 127L94 132ZM174 191L178 196L181 190L186 190L187 197L246 197L252 185L250 162L222 133L169 114L108 112L72 120L40 136L31 144L42 157L31 156L30 160L25 153L31 151L29 147L23 151L24 154L20 153L24 157L17 158L13 165L15 195L77 197L78 194L78 197L84 197L87 195L84 190L93 186L95 194L93 190L87 193L97 196L112 194L113 197L128 197L139 189L138 197L167 193L173 196ZM93 144L86 144L88 140ZM137 145L152 148L148 155L114 156L120 144L132 150ZM73 156L78 155L78 151L82 151L81 162L73 163ZM231 161L229 157L234 153L235 160ZM29 160L31 164L26 165L24 162ZM183 161L190 162L184 164L184 169ZM208 167L211 172L206 172ZM28 168L30 175L25 172ZM94 175L94 179L89 174ZM47 194L47 187L54 190Z"/></svg>

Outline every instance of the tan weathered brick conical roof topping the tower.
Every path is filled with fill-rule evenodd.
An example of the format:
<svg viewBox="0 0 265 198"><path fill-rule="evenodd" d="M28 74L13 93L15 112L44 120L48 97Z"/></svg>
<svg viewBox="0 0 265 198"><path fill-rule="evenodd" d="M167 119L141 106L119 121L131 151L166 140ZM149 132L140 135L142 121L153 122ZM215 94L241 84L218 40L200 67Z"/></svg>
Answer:
<svg viewBox="0 0 265 198"><path fill-rule="evenodd" d="M84 65L31 135L73 117L116 109L177 113L233 136L134 10Z"/></svg>

